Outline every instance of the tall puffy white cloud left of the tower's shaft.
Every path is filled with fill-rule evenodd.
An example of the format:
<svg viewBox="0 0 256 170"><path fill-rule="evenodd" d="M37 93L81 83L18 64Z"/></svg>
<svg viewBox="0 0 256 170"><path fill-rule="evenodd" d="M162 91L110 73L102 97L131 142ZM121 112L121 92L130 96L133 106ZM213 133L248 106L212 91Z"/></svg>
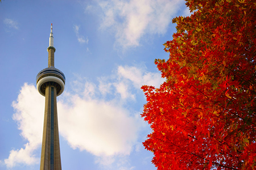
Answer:
<svg viewBox="0 0 256 170"><path fill-rule="evenodd" d="M24 145L25 148L11 150L9 158L4 162L9 168L17 164L39 163L33 152L42 142L44 97L40 96L35 86L25 83L18 99L13 102L13 108L13 120L17 122L20 134L28 142Z"/></svg>

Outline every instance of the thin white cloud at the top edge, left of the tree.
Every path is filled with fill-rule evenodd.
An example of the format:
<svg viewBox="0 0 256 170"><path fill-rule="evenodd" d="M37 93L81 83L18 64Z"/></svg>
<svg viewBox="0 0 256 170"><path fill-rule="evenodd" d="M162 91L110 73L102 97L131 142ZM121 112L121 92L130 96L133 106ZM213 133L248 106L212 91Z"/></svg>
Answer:
<svg viewBox="0 0 256 170"><path fill-rule="evenodd" d="M138 46L144 35L166 33L181 0L112 0L98 2L104 16L101 28L115 32L123 48Z"/></svg>

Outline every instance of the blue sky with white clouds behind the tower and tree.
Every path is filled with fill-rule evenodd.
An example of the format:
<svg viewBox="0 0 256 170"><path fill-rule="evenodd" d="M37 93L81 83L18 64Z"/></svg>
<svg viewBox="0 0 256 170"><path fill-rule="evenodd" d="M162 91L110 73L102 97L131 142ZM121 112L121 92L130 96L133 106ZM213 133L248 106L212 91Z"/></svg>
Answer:
<svg viewBox="0 0 256 170"><path fill-rule="evenodd" d="M0 169L39 169L44 97L36 74L47 67L53 23L55 67L66 76L57 97L65 169L156 169L142 142L140 87L164 81L172 18L185 1L95 0L0 3Z"/></svg>

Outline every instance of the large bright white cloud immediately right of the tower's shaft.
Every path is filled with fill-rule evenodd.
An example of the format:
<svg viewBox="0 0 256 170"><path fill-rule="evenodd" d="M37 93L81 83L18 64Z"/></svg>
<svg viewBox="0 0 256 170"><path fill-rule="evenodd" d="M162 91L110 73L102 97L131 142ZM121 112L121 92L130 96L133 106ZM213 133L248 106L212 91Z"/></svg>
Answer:
<svg viewBox="0 0 256 170"><path fill-rule="evenodd" d="M97 156L130 154L139 124L126 109L114 102L79 96L66 102L58 103L60 134L72 148Z"/></svg>

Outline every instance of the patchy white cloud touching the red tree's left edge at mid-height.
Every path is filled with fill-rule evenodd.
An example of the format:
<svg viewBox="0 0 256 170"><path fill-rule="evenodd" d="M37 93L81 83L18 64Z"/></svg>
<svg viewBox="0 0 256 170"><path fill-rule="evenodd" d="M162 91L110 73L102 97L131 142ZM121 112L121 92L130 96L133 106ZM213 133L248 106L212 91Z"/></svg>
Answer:
<svg viewBox="0 0 256 170"><path fill-rule="evenodd" d="M122 100L135 100L134 90L140 90L143 85L159 87L164 82L160 73L146 71L145 66L118 66L115 76L99 79L99 90L107 95L115 93Z"/></svg>

